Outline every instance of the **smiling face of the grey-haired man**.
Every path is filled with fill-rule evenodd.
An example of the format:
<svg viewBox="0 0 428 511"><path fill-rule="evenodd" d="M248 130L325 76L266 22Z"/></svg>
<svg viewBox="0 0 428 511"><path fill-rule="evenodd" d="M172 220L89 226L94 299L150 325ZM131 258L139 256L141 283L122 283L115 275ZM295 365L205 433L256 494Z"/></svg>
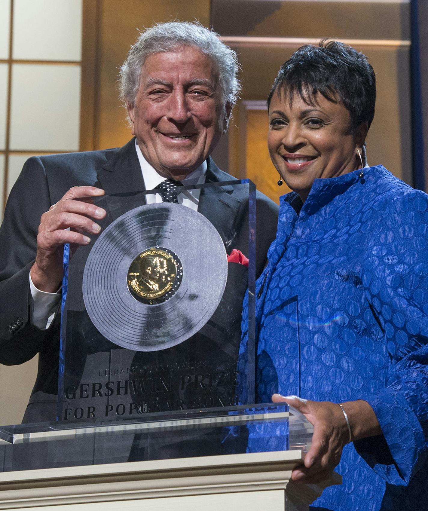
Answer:
<svg viewBox="0 0 428 511"><path fill-rule="evenodd" d="M127 105L132 134L159 174L182 179L218 144L230 113L223 103L209 57L189 46L154 53L142 66L135 103Z"/></svg>

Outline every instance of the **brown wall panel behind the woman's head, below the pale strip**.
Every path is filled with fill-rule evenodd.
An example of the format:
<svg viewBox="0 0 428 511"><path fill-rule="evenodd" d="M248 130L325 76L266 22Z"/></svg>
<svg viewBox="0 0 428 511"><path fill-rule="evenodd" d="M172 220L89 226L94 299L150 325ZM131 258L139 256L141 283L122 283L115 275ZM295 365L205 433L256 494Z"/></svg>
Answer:
<svg viewBox="0 0 428 511"><path fill-rule="evenodd" d="M232 45L242 65L242 99L267 98L280 65L298 46ZM367 137L369 164L383 164L411 183L410 48L364 44L354 47L369 57L377 80L376 113ZM231 129L236 129L233 124Z"/></svg>

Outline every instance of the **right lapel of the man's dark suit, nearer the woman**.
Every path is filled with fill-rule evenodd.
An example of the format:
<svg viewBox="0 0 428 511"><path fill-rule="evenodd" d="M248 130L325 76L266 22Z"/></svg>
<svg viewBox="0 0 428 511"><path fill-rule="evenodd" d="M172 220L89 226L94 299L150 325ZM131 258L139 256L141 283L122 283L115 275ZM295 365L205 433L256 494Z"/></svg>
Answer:
<svg viewBox="0 0 428 511"><path fill-rule="evenodd" d="M208 158L206 183L216 183L225 180L225 174ZM226 250L232 244L236 236L234 230L237 213L241 201L232 195L231 185L203 188L199 198L198 211L206 217L218 230Z"/></svg>

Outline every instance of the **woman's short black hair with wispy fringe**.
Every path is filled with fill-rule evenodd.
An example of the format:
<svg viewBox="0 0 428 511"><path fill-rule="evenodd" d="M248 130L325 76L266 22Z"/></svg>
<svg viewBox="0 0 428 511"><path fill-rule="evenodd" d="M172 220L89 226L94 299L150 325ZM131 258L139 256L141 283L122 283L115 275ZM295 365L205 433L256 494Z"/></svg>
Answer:
<svg viewBox="0 0 428 511"><path fill-rule="evenodd" d="M314 105L319 92L328 101L340 101L349 111L350 129L367 122L370 127L376 102L376 78L364 53L347 44L323 39L318 46L306 44L284 62L268 97L268 108L274 92L287 94L290 105L298 94L308 105Z"/></svg>

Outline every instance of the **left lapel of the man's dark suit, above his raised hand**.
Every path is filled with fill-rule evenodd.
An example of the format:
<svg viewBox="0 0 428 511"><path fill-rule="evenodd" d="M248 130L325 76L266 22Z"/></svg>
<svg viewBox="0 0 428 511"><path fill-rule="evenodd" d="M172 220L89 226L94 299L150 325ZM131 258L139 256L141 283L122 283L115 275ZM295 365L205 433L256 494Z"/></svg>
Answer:
<svg viewBox="0 0 428 511"><path fill-rule="evenodd" d="M134 207L146 204L146 190L135 151L135 138L118 149L99 170L97 179L106 193L106 204L113 220Z"/></svg>

